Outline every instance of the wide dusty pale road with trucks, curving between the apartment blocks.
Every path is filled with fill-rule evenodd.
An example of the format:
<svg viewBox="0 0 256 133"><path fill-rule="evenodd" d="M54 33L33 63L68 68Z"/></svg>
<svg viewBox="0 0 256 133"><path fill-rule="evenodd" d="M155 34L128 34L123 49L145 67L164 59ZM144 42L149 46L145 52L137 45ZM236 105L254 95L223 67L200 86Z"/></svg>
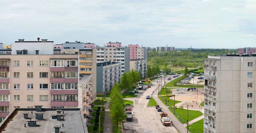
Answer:
<svg viewBox="0 0 256 133"><path fill-rule="evenodd" d="M166 77L170 77L170 75ZM172 80L173 79L175 78L172 78ZM152 92L156 90L158 87L158 83L156 81L161 81L161 78L154 81L155 82L153 82L151 88L142 91L140 96L138 96L134 102L134 107L132 109L134 113L134 120L124 123L124 133L178 133L173 125L164 126L161 123L160 112L157 112L154 107L147 107L149 99L146 99L146 95L151 95ZM164 83L164 78L162 78L162 82Z"/></svg>

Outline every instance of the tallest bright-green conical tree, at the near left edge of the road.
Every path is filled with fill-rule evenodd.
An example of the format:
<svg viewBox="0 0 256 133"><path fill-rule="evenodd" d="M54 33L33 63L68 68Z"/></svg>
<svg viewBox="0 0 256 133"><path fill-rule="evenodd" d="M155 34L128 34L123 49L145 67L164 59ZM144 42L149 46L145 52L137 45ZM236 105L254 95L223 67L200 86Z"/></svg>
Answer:
<svg viewBox="0 0 256 133"><path fill-rule="evenodd" d="M117 130L118 130L118 122L124 120L126 117L123 102L124 101L122 98L122 94L120 93L120 88L118 87L117 84L115 84L110 93L109 108L110 108L110 119L114 123L116 123Z"/></svg>

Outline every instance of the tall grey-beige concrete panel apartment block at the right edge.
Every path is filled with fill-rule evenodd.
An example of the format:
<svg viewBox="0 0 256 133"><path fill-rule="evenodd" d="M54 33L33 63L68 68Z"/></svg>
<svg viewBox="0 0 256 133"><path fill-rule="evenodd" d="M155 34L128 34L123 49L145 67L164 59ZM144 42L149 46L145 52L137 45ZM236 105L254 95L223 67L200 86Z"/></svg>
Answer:
<svg viewBox="0 0 256 133"><path fill-rule="evenodd" d="M255 133L256 55L204 61L204 133Z"/></svg>

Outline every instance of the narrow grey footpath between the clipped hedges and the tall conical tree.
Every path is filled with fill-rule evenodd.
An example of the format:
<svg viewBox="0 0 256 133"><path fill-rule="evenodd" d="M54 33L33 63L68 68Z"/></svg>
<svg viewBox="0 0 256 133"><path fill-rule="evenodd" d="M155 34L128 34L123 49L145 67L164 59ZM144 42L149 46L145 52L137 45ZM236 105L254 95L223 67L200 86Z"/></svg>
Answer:
<svg viewBox="0 0 256 133"><path fill-rule="evenodd" d="M106 102L106 104L104 105L105 106L105 118L104 118L104 133L112 133L113 131L113 122L112 120L110 119L110 112L109 112L109 109L108 109L108 102ZM107 130L108 129L108 130Z"/></svg>

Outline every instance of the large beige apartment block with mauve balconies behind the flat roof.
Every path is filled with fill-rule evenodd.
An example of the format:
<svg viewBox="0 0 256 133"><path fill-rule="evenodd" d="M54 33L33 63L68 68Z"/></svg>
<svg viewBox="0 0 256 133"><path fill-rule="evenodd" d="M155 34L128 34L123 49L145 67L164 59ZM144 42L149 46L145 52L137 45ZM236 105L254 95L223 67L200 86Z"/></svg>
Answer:
<svg viewBox="0 0 256 133"><path fill-rule="evenodd" d="M12 43L12 48L12 54L0 55L0 121L15 108L34 105L81 109L86 106L87 114L90 106L83 98L92 92L87 96L79 87L79 52L53 54L53 41L43 39L20 39ZM93 83L91 78L89 81Z"/></svg>

